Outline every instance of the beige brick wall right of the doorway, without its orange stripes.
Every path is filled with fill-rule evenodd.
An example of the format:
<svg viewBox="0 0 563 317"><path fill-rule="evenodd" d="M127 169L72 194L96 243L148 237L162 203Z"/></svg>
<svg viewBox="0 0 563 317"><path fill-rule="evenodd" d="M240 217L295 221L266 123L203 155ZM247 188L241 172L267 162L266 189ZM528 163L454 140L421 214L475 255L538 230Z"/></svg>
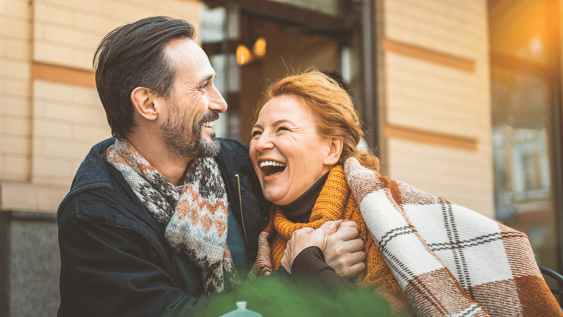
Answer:
<svg viewBox="0 0 563 317"><path fill-rule="evenodd" d="M383 167L493 217L488 26L485 0L382 0L383 37L475 61L474 73L386 52L387 124L475 138L477 150L386 138Z"/></svg>

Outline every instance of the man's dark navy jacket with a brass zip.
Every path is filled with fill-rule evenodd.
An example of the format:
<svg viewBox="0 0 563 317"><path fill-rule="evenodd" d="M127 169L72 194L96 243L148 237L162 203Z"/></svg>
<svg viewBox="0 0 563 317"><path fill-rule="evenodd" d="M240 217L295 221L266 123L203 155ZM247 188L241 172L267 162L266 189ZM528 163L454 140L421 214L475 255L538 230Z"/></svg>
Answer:
<svg viewBox="0 0 563 317"><path fill-rule="evenodd" d="M159 316L177 306L182 313L202 312L220 295L202 296L198 268L172 252L164 239L165 227L146 213L122 174L106 162L105 152L114 140L92 147L57 211L58 315ZM263 199L248 147L232 139L219 140L216 161L231 211L247 235L247 241L239 242L247 244L253 262L269 202Z"/></svg>

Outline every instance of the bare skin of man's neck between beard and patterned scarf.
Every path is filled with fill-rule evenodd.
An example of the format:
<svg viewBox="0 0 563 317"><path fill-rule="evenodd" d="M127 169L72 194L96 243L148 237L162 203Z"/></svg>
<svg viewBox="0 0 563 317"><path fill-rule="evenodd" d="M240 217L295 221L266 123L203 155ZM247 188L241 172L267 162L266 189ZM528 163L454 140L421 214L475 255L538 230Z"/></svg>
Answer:
<svg viewBox="0 0 563 317"><path fill-rule="evenodd" d="M129 135L128 140L149 161L150 165L174 186L184 184L186 166L191 159L174 155L163 140L144 138L140 134L135 134Z"/></svg>

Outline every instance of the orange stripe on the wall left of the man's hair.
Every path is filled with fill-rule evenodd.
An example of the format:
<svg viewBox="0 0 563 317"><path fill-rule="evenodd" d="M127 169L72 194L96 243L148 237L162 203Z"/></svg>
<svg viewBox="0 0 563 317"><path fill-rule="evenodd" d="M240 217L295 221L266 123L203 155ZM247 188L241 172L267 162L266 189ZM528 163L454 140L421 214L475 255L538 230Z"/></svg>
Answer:
<svg viewBox="0 0 563 317"><path fill-rule="evenodd" d="M49 65L43 63L32 63L32 79L69 83L70 85L96 87L93 71Z"/></svg>

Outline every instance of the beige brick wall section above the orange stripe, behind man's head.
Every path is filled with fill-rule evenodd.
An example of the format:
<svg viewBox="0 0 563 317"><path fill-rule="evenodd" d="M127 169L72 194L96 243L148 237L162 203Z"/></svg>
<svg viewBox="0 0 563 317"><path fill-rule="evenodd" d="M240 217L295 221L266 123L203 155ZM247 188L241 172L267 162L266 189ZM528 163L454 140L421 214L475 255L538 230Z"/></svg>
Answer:
<svg viewBox="0 0 563 317"><path fill-rule="evenodd" d="M152 15L189 20L199 29L200 3L186 0L35 0L33 59L92 69L92 56L104 35L119 25Z"/></svg>

